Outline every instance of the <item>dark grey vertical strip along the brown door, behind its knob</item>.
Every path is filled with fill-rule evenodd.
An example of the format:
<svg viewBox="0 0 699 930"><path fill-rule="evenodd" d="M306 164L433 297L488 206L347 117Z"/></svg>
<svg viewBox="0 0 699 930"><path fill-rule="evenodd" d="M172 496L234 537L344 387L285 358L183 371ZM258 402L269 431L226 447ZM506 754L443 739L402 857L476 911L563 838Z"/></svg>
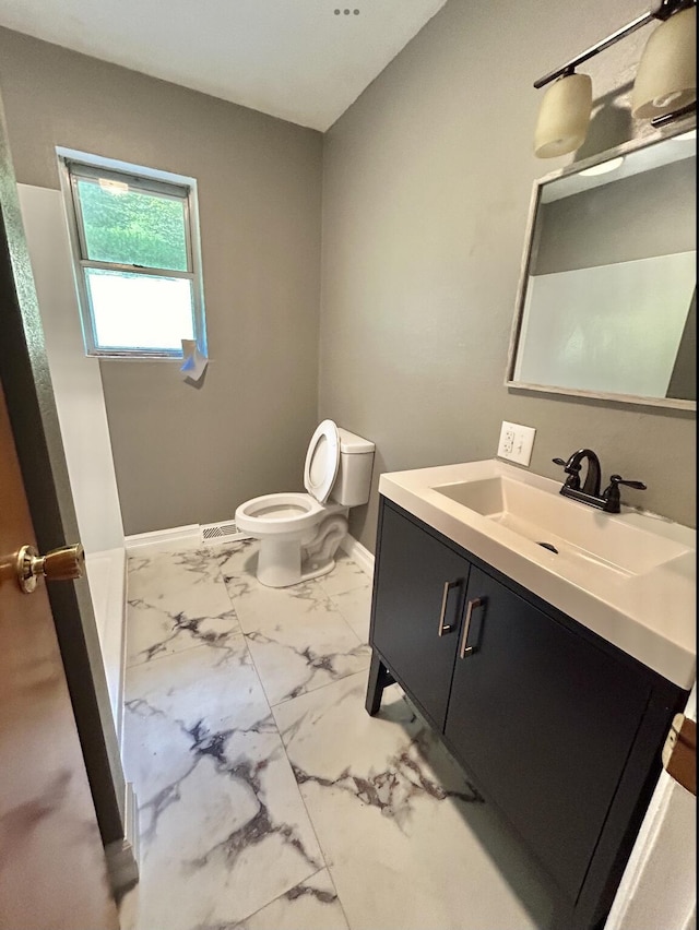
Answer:
<svg viewBox="0 0 699 930"><path fill-rule="evenodd" d="M0 98L0 381L39 551L80 539ZM48 587L104 846L126 837L127 784L86 579Z"/></svg>

